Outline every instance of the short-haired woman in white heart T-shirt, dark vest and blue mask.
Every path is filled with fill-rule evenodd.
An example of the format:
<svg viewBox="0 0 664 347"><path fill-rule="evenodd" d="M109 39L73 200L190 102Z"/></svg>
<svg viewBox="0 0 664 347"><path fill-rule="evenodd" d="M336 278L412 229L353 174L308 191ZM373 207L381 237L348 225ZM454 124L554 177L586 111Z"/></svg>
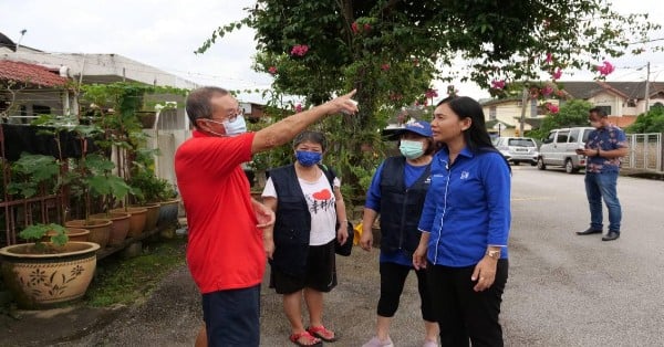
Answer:
<svg viewBox="0 0 664 347"><path fill-rule="evenodd" d="M293 140L298 160L270 170L262 192L263 203L276 212L270 287L283 295L290 340L298 346L336 340L322 322L323 293L336 286L334 242L345 243L349 230L341 181L320 165L325 147L321 133L298 135ZM300 312L302 296L309 311L307 329Z"/></svg>

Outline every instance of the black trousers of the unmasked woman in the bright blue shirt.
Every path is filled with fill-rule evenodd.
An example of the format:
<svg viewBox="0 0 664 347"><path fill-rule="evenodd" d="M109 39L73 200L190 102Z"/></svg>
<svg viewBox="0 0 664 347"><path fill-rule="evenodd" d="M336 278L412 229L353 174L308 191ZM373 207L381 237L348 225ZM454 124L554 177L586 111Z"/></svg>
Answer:
<svg viewBox="0 0 664 347"><path fill-rule="evenodd" d="M508 276L508 261L499 260L494 284L475 292L477 281L470 276L475 266L449 267L427 264L434 314L440 327L440 346L502 347L502 328L498 322L502 292Z"/></svg>

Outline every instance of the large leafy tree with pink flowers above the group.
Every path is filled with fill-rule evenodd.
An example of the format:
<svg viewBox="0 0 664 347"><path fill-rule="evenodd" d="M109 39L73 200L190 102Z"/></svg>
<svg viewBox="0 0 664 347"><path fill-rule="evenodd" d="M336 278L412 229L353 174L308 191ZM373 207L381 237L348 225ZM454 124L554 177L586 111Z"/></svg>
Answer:
<svg viewBox="0 0 664 347"><path fill-rule="evenodd" d="M594 70L658 29L647 15L620 15L602 0L258 0L246 10L197 53L249 27L259 52L255 69L273 75L277 95L303 96L308 106L356 88L359 115L325 120L339 140L331 165L353 185L381 157L376 138L387 117L422 102L432 80L488 87L556 69ZM467 62L460 69L459 59Z"/></svg>

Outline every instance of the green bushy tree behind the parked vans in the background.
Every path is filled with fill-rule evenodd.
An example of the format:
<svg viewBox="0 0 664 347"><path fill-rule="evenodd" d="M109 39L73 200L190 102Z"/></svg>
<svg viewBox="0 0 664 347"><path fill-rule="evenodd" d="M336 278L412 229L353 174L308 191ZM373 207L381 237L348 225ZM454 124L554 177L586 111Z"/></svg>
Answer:
<svg viewBox="0 0 664 347"><path fill-rule="evenodd" d="M582 99L571 99L560 106L557 114L551 114L544 117L538 130L529 133L530 137L541 139L549 135L551 129L566 128L573 126L589 126L588 111L593 105Z"/></svg>

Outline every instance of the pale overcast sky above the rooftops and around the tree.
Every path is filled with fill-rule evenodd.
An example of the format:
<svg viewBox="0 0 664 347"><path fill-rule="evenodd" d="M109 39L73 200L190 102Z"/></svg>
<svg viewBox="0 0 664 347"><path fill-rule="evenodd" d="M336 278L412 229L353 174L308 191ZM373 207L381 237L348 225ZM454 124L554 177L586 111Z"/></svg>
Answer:
<svg viewBox="0 0 664 347"><path fill-rule="evenodd" d="M194 51L220 25L245 17L253 0L0 0L0 32L21 45L59 53L115 53L201 85L229 90L269 88L269 74L251 70L253 32L242 29L218 40L205 54ZM644 13L663 24L660 0L613 0L619 12ZM21 31L27 30L24 35ZM656 38L655 38L656 36ZM664 31L652 39L664 38ZM608 81L664 81L664 53L611 60L616 66ZM600 63L600 62L598 62ZM562 81L590 80L593 74L566 72ZM444 96L448 83L434 82ZM460 95L488 93L471 83L453 83ZM241 94L261 102L259 94Z"/></svg>

